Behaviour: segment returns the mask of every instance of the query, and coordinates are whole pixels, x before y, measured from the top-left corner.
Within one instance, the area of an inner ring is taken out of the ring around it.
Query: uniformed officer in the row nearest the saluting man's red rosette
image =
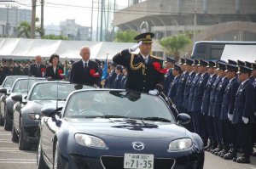
[[[170,57],[166,57],[166,69],[167,69],[167,73],[165,75],[165,86],[164,86],[164,93],[167,95],[170,89],[170,84],[174,78],[174,76],[172,75],[172,68],[173,65],[175,64],[176,60],[172,59]]]

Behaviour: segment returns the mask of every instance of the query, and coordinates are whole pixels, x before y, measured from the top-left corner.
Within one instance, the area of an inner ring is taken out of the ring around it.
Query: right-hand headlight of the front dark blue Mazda
[[[182,138],[172,141],[169,144],[168,151],[182,151],[192,147],[192,140],[190,138]]]

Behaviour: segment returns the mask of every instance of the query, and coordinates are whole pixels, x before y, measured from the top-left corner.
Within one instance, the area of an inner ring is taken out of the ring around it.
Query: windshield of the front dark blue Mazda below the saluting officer
[[[160,97],[120,91],[81,91],[68,99],[64,117],[135,118],[174,121],[171,110]]]

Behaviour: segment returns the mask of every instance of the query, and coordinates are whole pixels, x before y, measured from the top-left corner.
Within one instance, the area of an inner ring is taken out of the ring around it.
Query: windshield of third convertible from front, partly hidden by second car
[[[32,85],[36,82],[46,81],[45,79],[20,79],[15,82],[12,93],[27,93]]]

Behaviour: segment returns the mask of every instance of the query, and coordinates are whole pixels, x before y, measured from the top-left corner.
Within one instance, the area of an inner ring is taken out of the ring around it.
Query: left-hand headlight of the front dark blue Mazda
[[[105,142],[101,138],[96,138],[94,136],[90,136],[87,134],[76,133],[75,139],[78,142],[78,144],[87,147],[92,147],[96,149],[107,149]]]

